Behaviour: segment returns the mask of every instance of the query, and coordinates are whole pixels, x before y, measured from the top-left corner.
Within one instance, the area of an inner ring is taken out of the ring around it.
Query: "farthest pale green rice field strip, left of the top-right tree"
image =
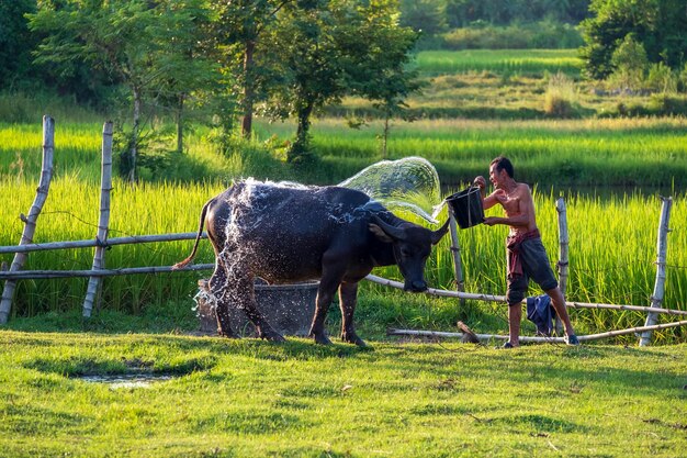
[[[421,75],[492,71],[498,74],[564,72],[578,76],[582,60],[575,49],[424,51],[415,59]]]

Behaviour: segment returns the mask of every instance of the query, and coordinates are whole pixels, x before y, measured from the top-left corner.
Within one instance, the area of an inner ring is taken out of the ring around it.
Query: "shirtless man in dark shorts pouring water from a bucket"
[[[513,177],[513,164],[506,157],[499,156],[489,165],[489,181],[494,185],[494,192],[484,197],[486,188],[484,177],[476,177],[473,182],[482,190],[485,210],[498,203],[506,212],[506,217],[485,217],[484,224],[510,226],[506,241],[508,248],[508,292],[506,300],[508,301],[509,340],[504,344],[504,347],[513,348],[520,345],[521,302],[525,299],[530,278],[551,298],[553,308],[565,326],[565,343],[578,345],[579,342],[575,336],[565,309],[565,299],[559,289],[559,282],[553,276],[547,252],[541,243],[530,188],[526,183],[517,182]]]

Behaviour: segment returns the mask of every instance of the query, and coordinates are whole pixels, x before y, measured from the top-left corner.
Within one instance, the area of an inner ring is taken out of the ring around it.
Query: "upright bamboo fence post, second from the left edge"
[[[102,175],[100,183],[100,219],[98,222],[98,235],[93,255],[93,270],[105,267],[105,243],[110,224],[110,191],[112,191],[112,122],[109,121],[102,129]],[[98,293],[102,277],[91,277],[88,280],[86,299],[83,300],[83,317],[91,316],[93,302]]]

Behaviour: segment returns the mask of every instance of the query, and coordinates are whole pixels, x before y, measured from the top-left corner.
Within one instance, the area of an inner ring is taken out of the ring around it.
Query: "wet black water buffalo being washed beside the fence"
[[[330,343],[324,324],[338,289],[341,339],[357,345],[364,345],[353,327],[358,282],[375,266],[397,265],[406,290],[427,290],[425,262],[448,230],[448,221],[436,232],[404,221],[352,189],[249,180],[205,203],[193,250],[176,268],[195,256],[203,224],[215,249],[210,291],[219,334],[235,336],[228,316],[233,302],[260,337],[283,340],[256,308],[254,278],[270,283],[319,279],[309,335]]]

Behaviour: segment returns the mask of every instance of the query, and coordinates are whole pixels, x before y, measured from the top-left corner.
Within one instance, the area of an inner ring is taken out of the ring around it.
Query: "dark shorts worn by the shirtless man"
[[[515,278],[508,276],[508,291],[506,292],[508,305],[517,305],[522,302],[530,278],[544,291],[559,286],[553,276],[547,249],[541,243],[541,237],[522,241],[519,256],[522,265],[522,275]],[[509,256],[506,256],[506,259],[508,258]],[[510,266],[508,266],[508,271],[510,271]]]

